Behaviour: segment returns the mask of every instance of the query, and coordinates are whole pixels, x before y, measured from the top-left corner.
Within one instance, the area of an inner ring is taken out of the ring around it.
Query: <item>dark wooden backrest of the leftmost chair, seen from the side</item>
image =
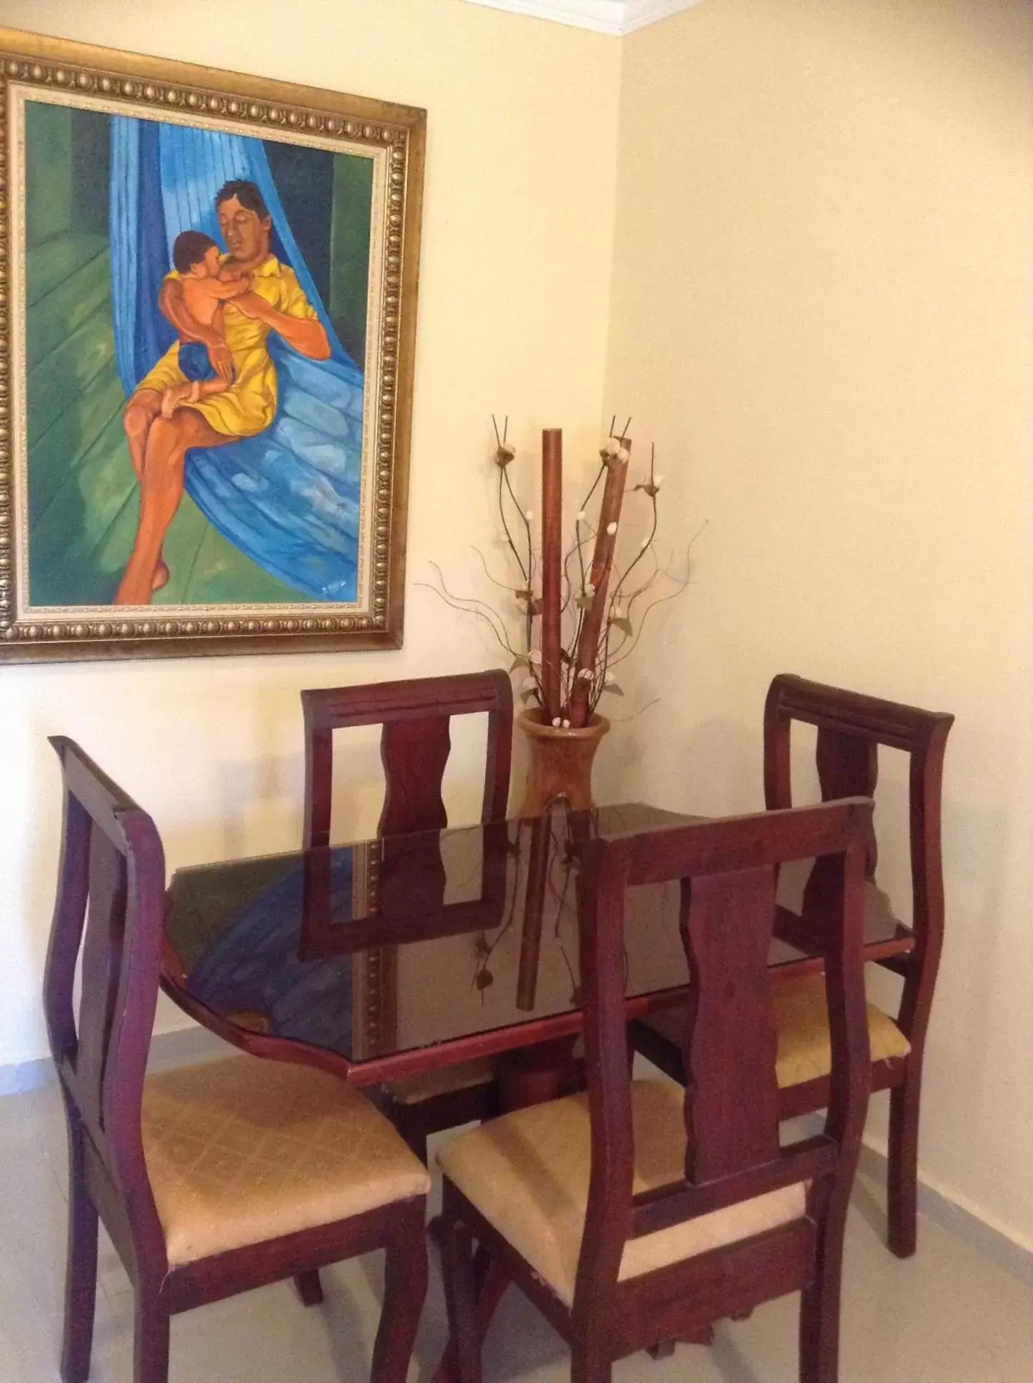
[[[106,1174],[130,1221],[144,1217],[141,1232],[159,1246],[141,1104],[158,1004],[165,853],[153,820],[73,740],[54,736],[50,743],[61,759],[65,790],[43,986],[50,1050],[69,1120],[86,1134],[100,1163],[95,1173]]]

